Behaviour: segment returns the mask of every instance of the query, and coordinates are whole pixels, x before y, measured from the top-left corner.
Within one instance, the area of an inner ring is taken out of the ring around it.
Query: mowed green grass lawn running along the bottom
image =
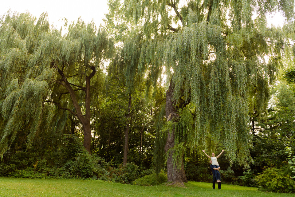
[[[221,190],[217,188],[213,190],[211,183],[202,182],[189,182],[185,184],[185,187],[172,187],[166,184],[143,187],[97,180],[44,180],[0,177],[1,197],[294,197],[294,194],[261,192],[254,187],[222,184],[221,188]]]

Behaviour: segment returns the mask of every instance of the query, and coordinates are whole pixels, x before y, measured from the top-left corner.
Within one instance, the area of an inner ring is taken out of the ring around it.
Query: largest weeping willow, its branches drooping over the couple
[[[282,30],[268,27],[266,16],[293,19],[293,1],[125,0],[124,7],[129,20],[144,21],[130,72],[154,86],[167,75],[168,182],[187,181],[183,153],[196,146],[220,142],[230,163],[249,167],[249,109],[262,110],[284,47]]]

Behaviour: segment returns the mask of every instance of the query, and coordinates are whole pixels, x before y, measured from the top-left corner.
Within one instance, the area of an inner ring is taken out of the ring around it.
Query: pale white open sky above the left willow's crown
[[[9,9],[11,12],[26,12],[37,19],[46,11],[50,25],[62,26],[61,19],[67,18],[69,22],[77,21],[79,16],[86,22],[94,19],[95,25],[103,23],[105,13],[108,13],[108,0],[5,0],[0,4],[0,16]]]

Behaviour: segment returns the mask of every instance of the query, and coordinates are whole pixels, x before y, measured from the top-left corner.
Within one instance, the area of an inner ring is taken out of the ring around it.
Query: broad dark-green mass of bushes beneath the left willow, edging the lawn
[[[118,183],[131,183],[139,177],[136,164],[115,167],[95,154],[90,155],[76,136],[65,135],[61,141],[60,147],[43,154],[33,149],[16,152],[6,163],[0,163],[0,175],[32,179],[100,179]]]

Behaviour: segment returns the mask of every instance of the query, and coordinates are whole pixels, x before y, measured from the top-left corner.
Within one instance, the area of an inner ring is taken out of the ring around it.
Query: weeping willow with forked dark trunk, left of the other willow
[[[113,50],[105,31],[78,19],[62,35],[49,27],[46,13],[38,20],[29,13],[6,14],[0,25],[0,155],[24,126],[29,146],[45,129],[40,128],[42,118],[55,118],[44,111],[54,106],[80,120],[90,152],[91,96],[102,84],[103,61]]]

